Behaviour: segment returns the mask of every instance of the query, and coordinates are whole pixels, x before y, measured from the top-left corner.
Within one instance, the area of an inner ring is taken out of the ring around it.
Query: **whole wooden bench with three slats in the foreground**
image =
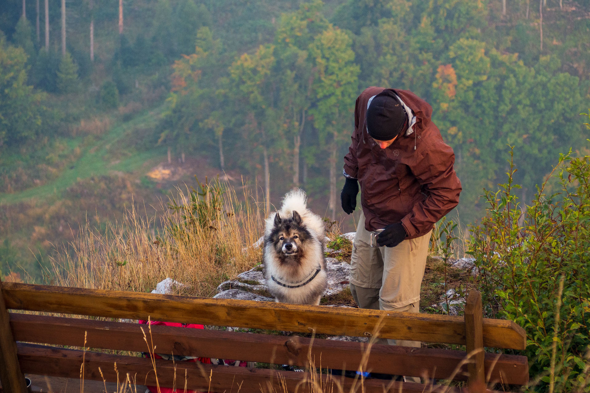
[[[5,391],[24,393],[24,374],[120,381],[129,374],[140,385],[234,391],[249,393],[313,390],[312,380],[337,384],[343,391],[359,388],[353,378],[329,377],[309,372],[228,367],[173,362],[66,349],[63,346],[156,352],[241,359],[251,362],[289,364],[312,368],[357,370],[385,374],[467,380],[469,391],[483,392],[496,383],[526,384],[529,379],[525,356],[484,352],[484,347],[524,349],[525,332],[511,321],[482,318],[481,296],[473,291],[467,298],[465,315],[443,316],[395,313],[330,306],[291,305],[247,300],[189,298],[113,290],[63,288],[57,286],[1,283],[0,290],[0,380]],[[63,316],[38,315],[57,313]],[[114,318],[114,321],[71,318],[83,315]],[[151,326],[119,322],[119,319],[148,319],[214,326],[315,333],[315,338]],[[143,327],[143,332],[142,332]],[[320,339],[322,335],[393,338],[422,342],[466,345],[467,351],[438,348],[409,348],[340,342]],[[86,345],[84,339],[86,338]],[[363,356],[366,355],[366,356]],[[467,359],[467,360],[466,360]],[[117,372],[113,365],[117,365]],[[156,372],[154,372],[154,366]],[[100,370],[99,370],[100,368]],[[329,380],[332,382],[329,382]],[[305,382],[307,381],[307,382]],[[301,385],[303,382],[303,385]],[[365,392],[444,391],[466,389],[367,379]],[[182,391],[182,389],[181,389]],[[317,389],[315,392],[318,392]]]

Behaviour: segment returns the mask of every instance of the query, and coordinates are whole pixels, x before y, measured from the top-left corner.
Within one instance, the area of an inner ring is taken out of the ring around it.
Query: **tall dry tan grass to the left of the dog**
[[[246,186],[239,198],[227,183],[204,187],[204,197],[177,189],[152,217],[133,208],[104,231],[86,224],[51,259],[48,273],[56,285],[136,292],[169,277],[186,285],[182,295],[214,295],[219,283],[260,262],[260,248],[242,249],[262,235],[266,213]]]

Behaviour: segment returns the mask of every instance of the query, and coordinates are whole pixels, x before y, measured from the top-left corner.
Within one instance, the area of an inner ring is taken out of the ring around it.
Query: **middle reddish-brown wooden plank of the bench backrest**
[[[15,339],[40,344],[86,346],[146,352],[143,326],[148,340],[158,352],[208,358],[241,359],[253,362],[306,366],[308,354],[322,359],[323,368],[358,369],[366,344],[309,339],[297,336],[271,336],[253,333],[207,331],[201,329],[148,326],[134,323],[91,321],[88,319],[11,313]],[[525,356],[489,354],[486,364],[492,369],[491,379],[505,384],[525,384],[528,364]],[[432,348],[405,348],[374,345],[369,354],[366,371],[446,379],[465,358],[466,352]],[[467,379],[467,367],[458,369],[455,379]]]

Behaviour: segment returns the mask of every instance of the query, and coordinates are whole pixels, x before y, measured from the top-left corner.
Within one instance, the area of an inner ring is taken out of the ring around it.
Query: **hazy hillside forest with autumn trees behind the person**
[[[588,0],[6,0],[2,273],[39,278],[87,219],[104,228],[165,197],[145,163],[199,157],[257,179],[267,201],[301,186],[342,217],[342,157],[369,85],[432,105],[461,222],[481,217],[507,145],[526,202],[559,153],[588,154],[589,18]]]

